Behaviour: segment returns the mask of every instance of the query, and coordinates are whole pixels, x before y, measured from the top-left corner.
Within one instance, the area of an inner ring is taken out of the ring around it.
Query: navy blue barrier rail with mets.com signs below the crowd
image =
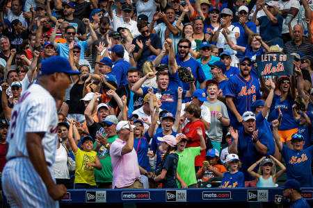
[[[237,189],[70,189],[61,203],[273,202],[282,188]],[[302,195],[313,202],[313,188]]]

